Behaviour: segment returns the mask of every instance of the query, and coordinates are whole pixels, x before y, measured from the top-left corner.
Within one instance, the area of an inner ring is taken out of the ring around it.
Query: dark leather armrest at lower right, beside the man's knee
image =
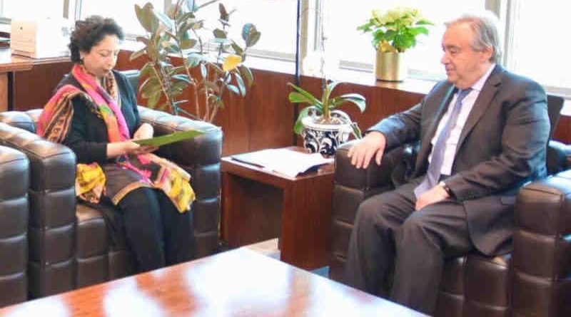
[[[515,203],[512,309],[521,316],[569,316],[571,170],[523,187]]]

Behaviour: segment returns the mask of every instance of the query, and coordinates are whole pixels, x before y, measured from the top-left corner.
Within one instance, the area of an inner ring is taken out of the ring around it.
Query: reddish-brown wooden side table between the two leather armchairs
[[[333,164],[291,178],[223,157],[221,170],[221,237],[229,246],[279,237],[282,261],[303,269],[328,264]]]

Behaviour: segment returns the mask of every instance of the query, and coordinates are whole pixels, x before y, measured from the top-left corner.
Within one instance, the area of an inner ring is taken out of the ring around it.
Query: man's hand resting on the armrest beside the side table
[[[369,132],[363,139],[358,140],[349,149],[347,157],[351,158],[351,164],[357,168],[367,168],[373,155],[375,155],[375,162],[380,165],[380,159],[383,158],[385,152],[385,145],[387,140],[385,135],[380,132]]]

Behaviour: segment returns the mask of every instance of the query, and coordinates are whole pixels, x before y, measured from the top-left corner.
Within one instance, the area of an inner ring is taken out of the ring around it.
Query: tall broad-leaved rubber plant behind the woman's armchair
[[[241,40],[230,37],[230,18],[234,10],[218,3],[219,27],[209,31],[201,9],[218,0],[177,0],[163,13],[151,3],[135,5],[136,16],[146,30],[137,41],[141,50],[131,60],[146,56],[141,68],[146,78],[139,90],[150,108],[168,110],[175,115],[212,122],[224,108],[226,92],[245,96],[253,83],[250,69],[243,64],[248,49],[260,39],[261,33],[251,23],[244,24]],[[210,36],[208,36],[210,35]],[[173,63],[176,57],[181,61]],[[191,100],[183,99],[183,90],[191,88]],[[186,107],[183,105],[187,104]],[[193,109],[193,113],[185,110]]]

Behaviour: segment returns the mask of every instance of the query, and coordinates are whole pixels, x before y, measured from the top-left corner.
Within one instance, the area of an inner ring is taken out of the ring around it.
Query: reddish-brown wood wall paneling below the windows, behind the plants
[[[129,52],[119,54],[116,68],[121,70],[138,69],[145,61],[139,58],[129,61]],[[294,105],[288,101],[293,82],[291,74],[252,69],[254,83],[246,98],[229,96],[226,108],[215,120],[224,132],[223,155],[261,150],[268,147],[285,147],[293,144]],[[319,78],[301,77],[301,85],[311,93],[319,93]],[[358,85],[344,83],[335,89],[335,94],[361,93],[367,98],[367,109],[360,113],[356,107],[343,108],[362,129],[368,128],[380,118],[397,113],[417,103],[423,94],[403,93],[402,90],[380,85]],[[192,100],[192,93],[185,96]],[[139,96],[139,103],[145,104]],[[193,109],[186,108],[193,113]],[[298,144],[300,139],[298,138]]]

